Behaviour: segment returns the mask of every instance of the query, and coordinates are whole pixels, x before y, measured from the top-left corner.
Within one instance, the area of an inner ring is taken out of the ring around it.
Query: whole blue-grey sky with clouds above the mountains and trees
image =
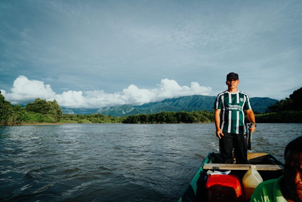
[[[140,105],[302,87],[301,1],[0,1],[0,89],[13,104]]]

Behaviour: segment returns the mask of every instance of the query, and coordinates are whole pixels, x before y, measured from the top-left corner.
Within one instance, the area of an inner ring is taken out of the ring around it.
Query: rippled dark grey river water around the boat
[[[0,200],[176,201],[209,152],[214,124],[0,126]],[[252,152],[283,161],[302,124],[258,124]]]

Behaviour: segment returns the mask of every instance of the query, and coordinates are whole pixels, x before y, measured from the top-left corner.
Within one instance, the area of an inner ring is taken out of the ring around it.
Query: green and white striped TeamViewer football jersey
[[[220,128],[222,132],[247,134],[245,110],[252,109],[252,107],[246,93],[224,91],[218,94],[215,109],[221,109]]]

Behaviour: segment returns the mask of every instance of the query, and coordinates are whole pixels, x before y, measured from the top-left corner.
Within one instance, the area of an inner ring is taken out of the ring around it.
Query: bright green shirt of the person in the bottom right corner
[[[283,175],[278,179],[267,180],[260,183],[251,196],[251,202],[286,202],[280,189]]]

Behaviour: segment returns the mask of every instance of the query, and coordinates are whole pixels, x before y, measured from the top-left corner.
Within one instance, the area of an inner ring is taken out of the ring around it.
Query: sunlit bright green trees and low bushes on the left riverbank
[[[0,91],[0,125],[15,124],[57,124],[57,123],[121,123],[125,117],[104,116],[102,114],[71,115],[62,114],[56,100],[37,98],[25,107],[5,101]]]

